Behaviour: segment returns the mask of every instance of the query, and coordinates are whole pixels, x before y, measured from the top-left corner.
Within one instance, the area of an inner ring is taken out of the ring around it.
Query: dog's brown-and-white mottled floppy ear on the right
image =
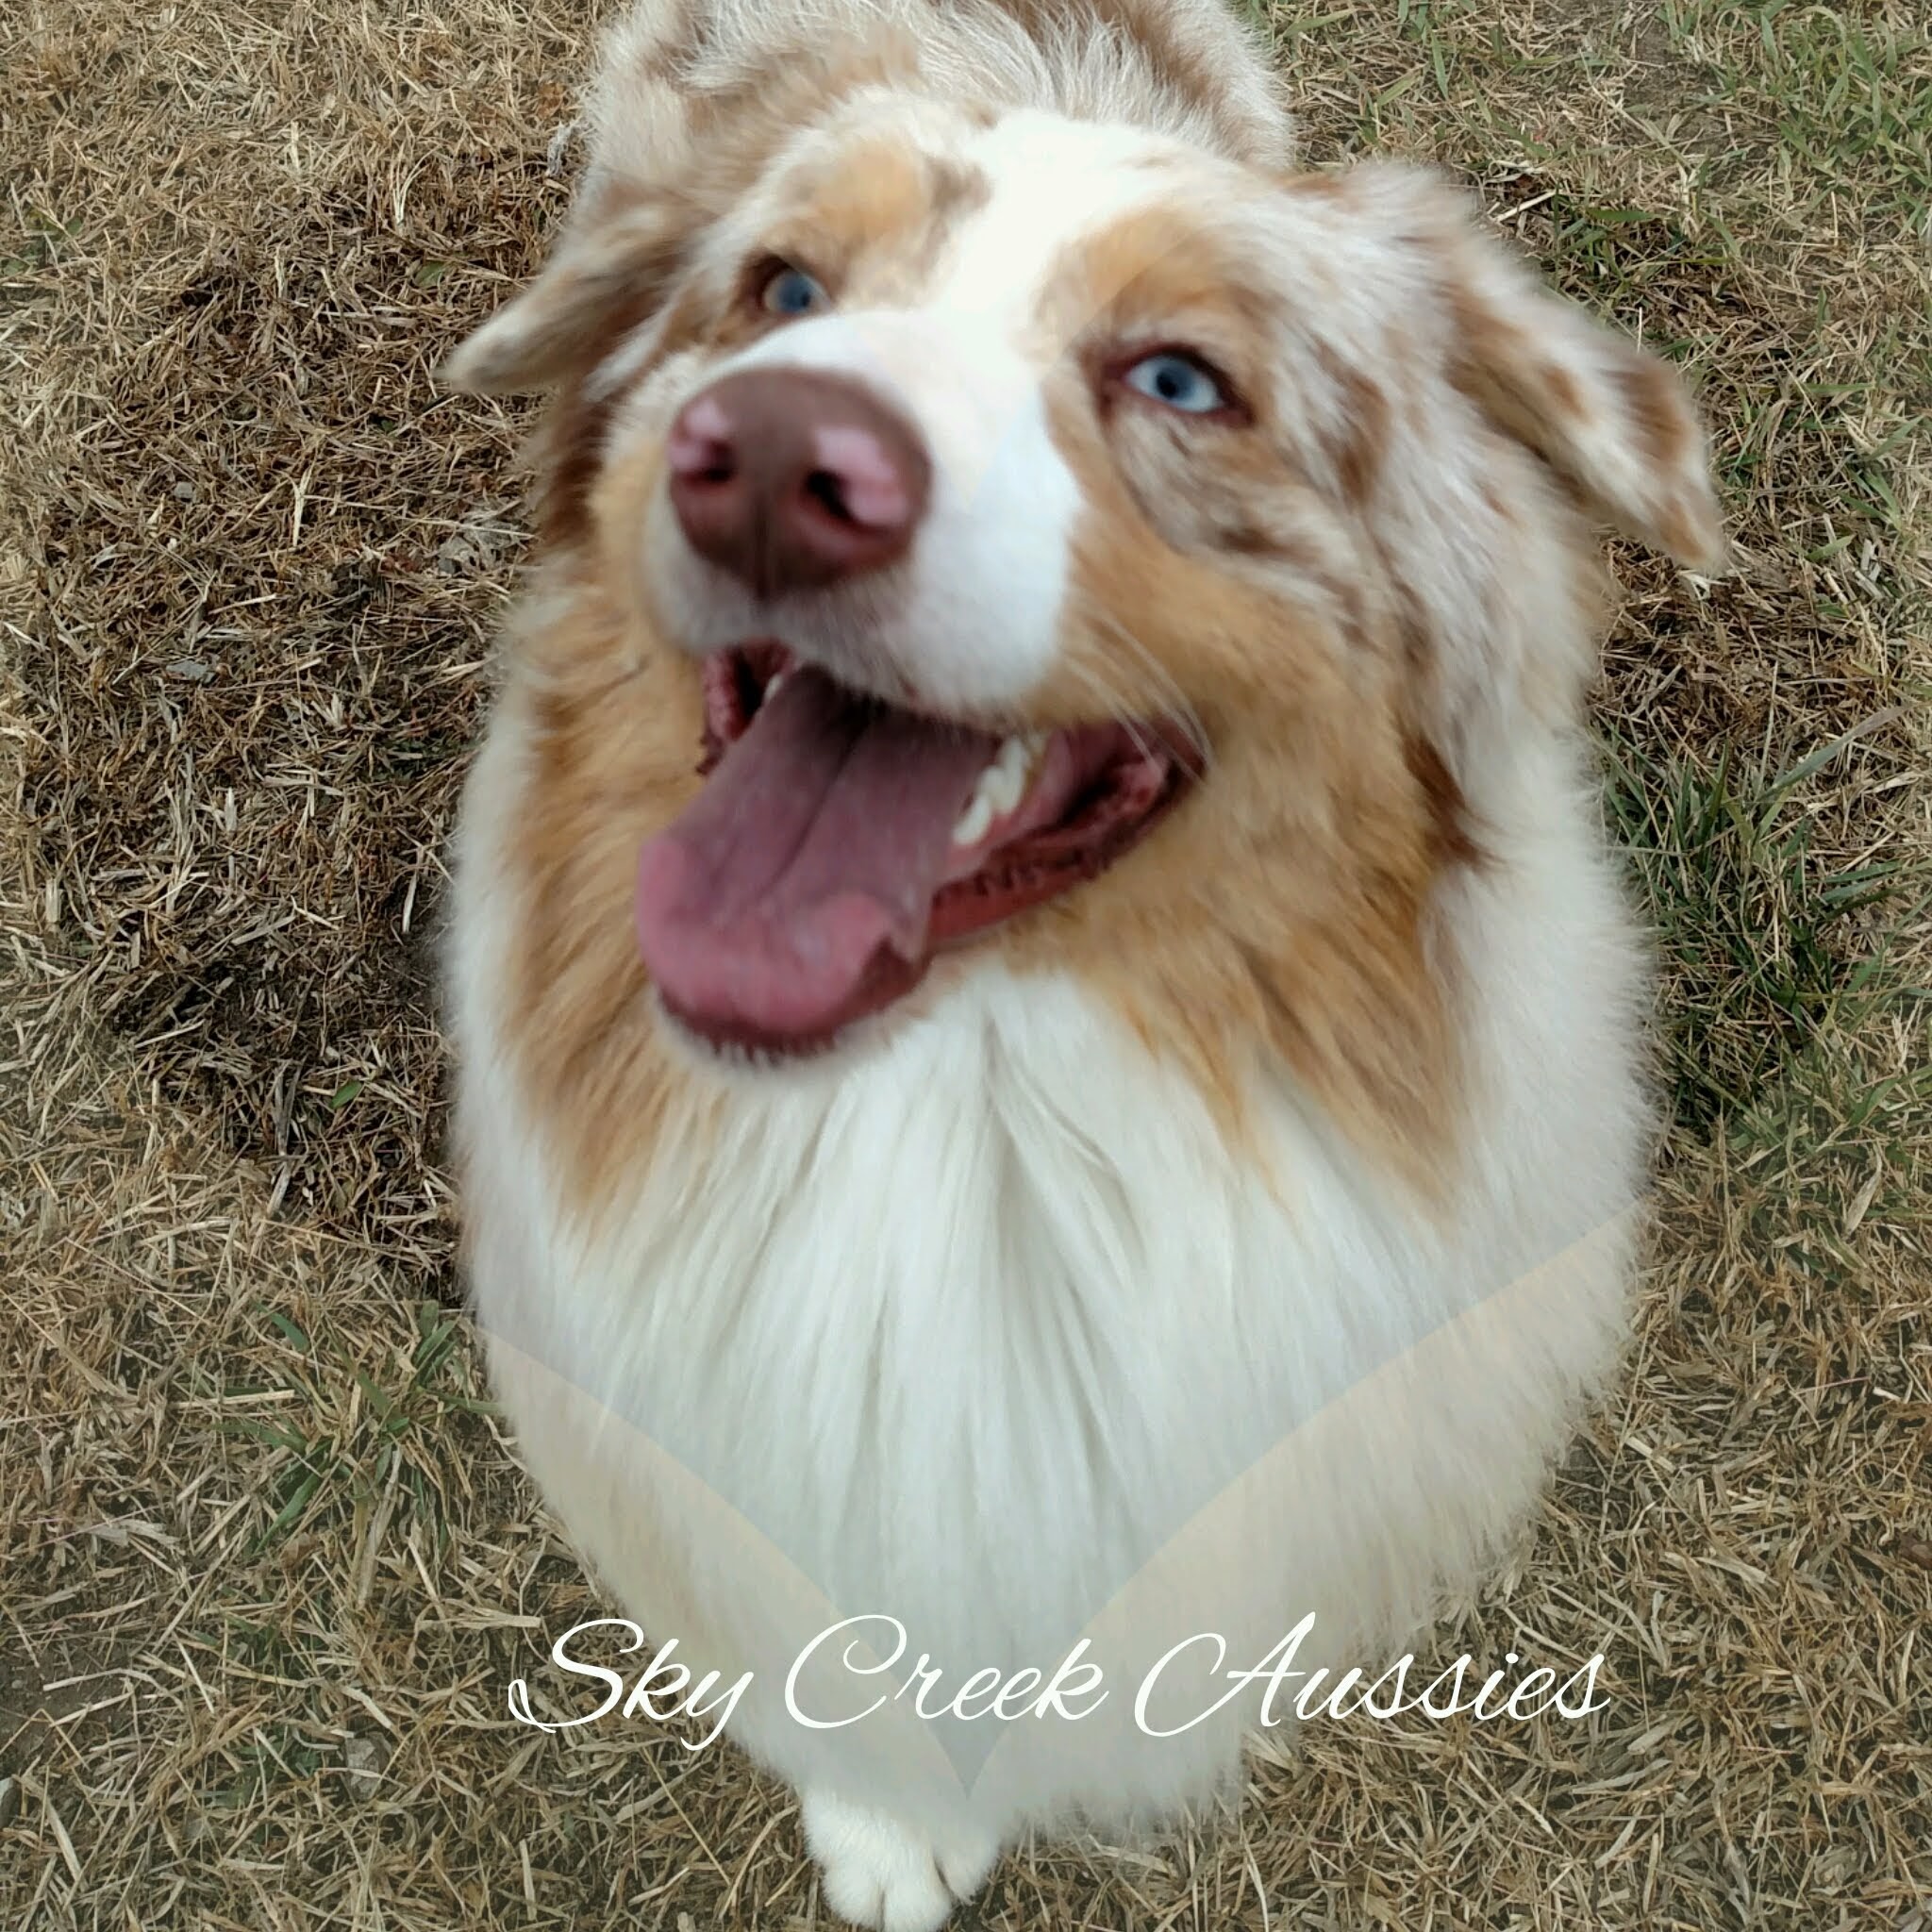
[[[1538,284],[1447,182],[1412,168],[1360,170],[1399,197],[1430,253],[1457,384],[1625,535],[1690,568],[1725,568],[1710,454],[1671,363]]]

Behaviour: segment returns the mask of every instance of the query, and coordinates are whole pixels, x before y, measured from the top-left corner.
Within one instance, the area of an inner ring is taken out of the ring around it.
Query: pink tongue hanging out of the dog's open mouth
[[[638,862],[638,943],[665,1005],[709,1037],[782,1047],[902,993],[997,750],[794,670]]]

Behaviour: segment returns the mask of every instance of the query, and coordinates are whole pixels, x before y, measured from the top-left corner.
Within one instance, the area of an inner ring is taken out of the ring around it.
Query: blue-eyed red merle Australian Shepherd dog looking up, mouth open
[[[446,379],[551,398],[446,956],[493,1385],[927,1932],[1229,1789],[1229,1660],[1414,1629],[1615,1372],[1592,526],[1718,570],[1704,433],[1208,0],[643,0]]]

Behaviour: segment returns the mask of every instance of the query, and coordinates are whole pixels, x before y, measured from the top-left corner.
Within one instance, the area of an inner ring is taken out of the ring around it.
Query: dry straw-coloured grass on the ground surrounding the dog
[[[504,1714],[591,1598],[446,1306],[425,935],[518,535],[514,423],[427,371],[562,205],[585,17],[439,6],[8,17],[8,1926],[815,1917],[728,1752]],[[983,1926],[1932,1922],[1911,12],[1267,15],[1314,158],[1439,156],[1689,363],[1750,556],[1714,587],[1619,558],[1660,1262],[1627,1395],[1430,1638],[1604,1648],[1611,1708],[1310,1735],[1236,1830],[1012,1859]]]

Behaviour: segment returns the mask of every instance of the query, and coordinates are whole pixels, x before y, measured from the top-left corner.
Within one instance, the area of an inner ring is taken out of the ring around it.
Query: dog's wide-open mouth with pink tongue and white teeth
[[[699,769],[638,866],[659,999],[713,1045],[811,1053],[941,949],[1113,864],[1200,753],[1165,723],[997,738],[750,643],[705,661]]]

